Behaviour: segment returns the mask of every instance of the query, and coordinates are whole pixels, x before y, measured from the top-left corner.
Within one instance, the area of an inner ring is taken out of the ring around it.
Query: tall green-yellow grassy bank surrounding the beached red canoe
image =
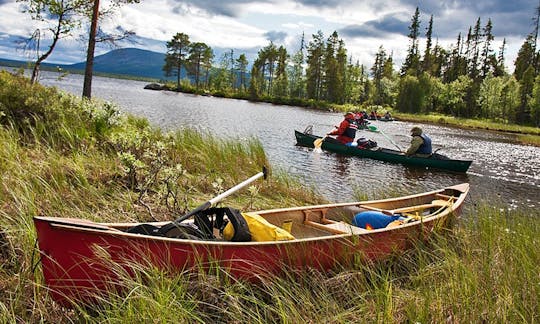
[[[107,103],[0,72],[0,323],[419,322],[540,320],[540,213],[475,202],[457,227],[383,264],[260,284],[223,269],[135,266],[100,304],[62,308],[43,286],[35,215],[174,219],[268,164],[259,141],[162,133]],[[284,172],[227,198],[245,210],[323,202]],[[489,207],[488,207],[489,206]]]

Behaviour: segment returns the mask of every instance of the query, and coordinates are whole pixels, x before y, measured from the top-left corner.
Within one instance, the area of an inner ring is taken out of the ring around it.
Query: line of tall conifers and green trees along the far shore
[[[538,127],[539,13],[537,8],[535,28],[518,52],[513,73],[504,65],[506,40],[500,48],[493,48],[491,19],[482,24],[479,17],[466,34],[457,35],[455,44],[443,48],[432,38],[433,16],[424,28],[425,35],[420,34],[418,8],[408,28],[408,51],[399,69],[382,45],[373,65],[366,67],[348,56],[336,31],[328,37],[319,31],[309,42],[302,35],[295,53],[270,42],[259,50],[250,69],[245,54],[235,55],[231,50],[216,62],[210,46],[177,33],[167,42],[163,71],[176,77],[176,88],[182,91],[211,91],[303,106],[375,106]]]

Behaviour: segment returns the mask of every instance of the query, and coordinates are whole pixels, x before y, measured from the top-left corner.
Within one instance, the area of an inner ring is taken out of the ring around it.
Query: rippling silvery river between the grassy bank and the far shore
[[[59,79],[55,73],[43,72],[40,82],[76,95],[82,93],[81,75]],[[330,201],[349,201],[356,193],[376,198],[381,194],[416,193],[469,182],[470,201],[481,199],[509,209],[540,206],[540,148],[516,144],[512,134],[419,125],[432,138],[434,149],[441,148],[439,153],[473,163],[465,174],[414,168],[334,153],[314,153],[312,149],[295,145],[295,129],[302,131],[313,125],[313,133],[322,135],[341,122],[341,113],[144,90],[146,84],[95,77],[92,96],[113,101],[121,110],[146,117],[164,130],[192,127],[222,138],[257,137],[274,168],[300,177],[306,186],[314,187]],[[406,148],[409,130],[416,124],[374,121],[372,125]],[[359,131],[357,137],[394,148],[381,134]]]

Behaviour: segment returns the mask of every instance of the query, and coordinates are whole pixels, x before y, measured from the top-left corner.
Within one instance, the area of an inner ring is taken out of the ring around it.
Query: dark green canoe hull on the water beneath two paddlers
[[[313,142],[316,139],[321,138],[320,136],[306,134],[296,130],[294,131],[294,134],[296,136],[297,145],[305,147],[313,147]],[[405,156],[399,151],[381,147],[373,149],[361,149],[354,146],[343,145],[336,142],[334,139],[325,139],[322,143],[321,148],[323,150],[339,154],[353,155],[392,163],[402,163],[406,165],[437,168],[456,172],[467,172],[467,169],[469,169],[469,166],[472,163],[472,161],[447,159],[439,154],[434,154],[431,157],[418,157]]]

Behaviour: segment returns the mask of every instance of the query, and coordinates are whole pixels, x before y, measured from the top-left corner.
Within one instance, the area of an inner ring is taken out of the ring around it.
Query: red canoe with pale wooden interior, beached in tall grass
[[[271,224],[291,223],[294,239],[267,242],[190,240],[126,232],[137,224],[34,217],[45,284],[54,300],[91,303],[132,273],[133,264],[180,273],[218,265],[237,278],[279,275],[284,269],[329,270],[354,259],[374,262],[411,248],[458,214],[469,191],[463,183],[421,194],[364,202],[256,212]],[[368,230],[351,225],[362,211],[400,213],[409,222]],[[189,221],[189,220],[188,220]],[[153,223],[163,226],[165,223]],[[120,271],[122,270],[123,271]]]

